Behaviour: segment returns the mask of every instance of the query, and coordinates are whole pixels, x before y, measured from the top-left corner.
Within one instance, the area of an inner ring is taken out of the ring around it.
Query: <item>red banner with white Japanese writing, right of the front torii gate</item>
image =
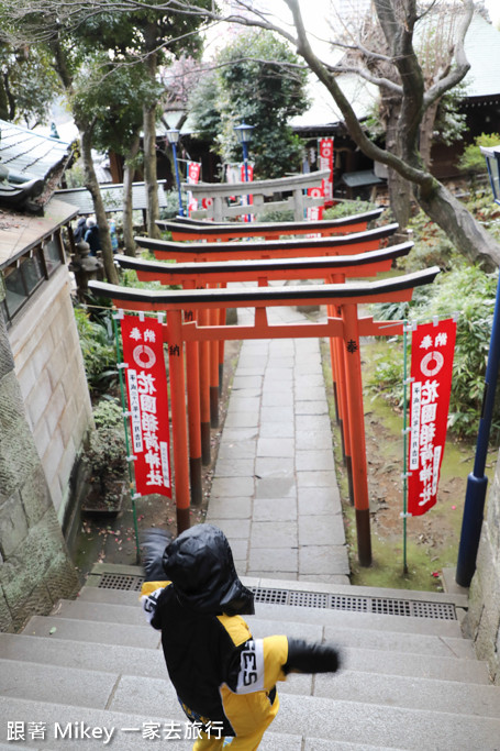
[[[419,325],[412,333],[408,512],[436,502],[446,441],[456,322]]]

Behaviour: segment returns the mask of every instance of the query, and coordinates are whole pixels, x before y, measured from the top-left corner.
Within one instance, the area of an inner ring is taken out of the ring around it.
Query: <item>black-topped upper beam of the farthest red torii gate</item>
[[[241,238],[278,239],[282,235],[321,234],[323,238],[345,232],[362,232],[368,222],[380,217],[384,209],[374,209],[364,213],[338,219],[321,219],[303,222],[208,222],[177,217],[175,220],[157,220],[160,230],[171,232],[174,241],[207,240],[223,242]]]

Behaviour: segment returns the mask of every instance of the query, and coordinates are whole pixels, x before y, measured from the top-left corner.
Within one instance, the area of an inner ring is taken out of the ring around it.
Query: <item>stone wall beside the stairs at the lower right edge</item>
[[[500,454],[470,585],[468,626],[478,658],[488,662],[493,683],[500,685]]]

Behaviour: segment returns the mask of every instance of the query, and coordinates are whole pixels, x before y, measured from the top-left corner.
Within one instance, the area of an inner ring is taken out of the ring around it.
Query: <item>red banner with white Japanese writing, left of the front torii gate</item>
[[[121,321],[126,364],[132,454],[138,494],[171,498],[170,427],[162,323],[125,316]]]

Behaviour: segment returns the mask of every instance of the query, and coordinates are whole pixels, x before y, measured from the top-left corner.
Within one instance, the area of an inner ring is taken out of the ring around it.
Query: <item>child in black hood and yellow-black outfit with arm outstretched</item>
[[[200,728],[193,751],[255,751],[276,717],[276,682],[288,673],[338,669],[337,651],[286,636],[254,639],[242,615],[254,595],[240,581],[224,533],[198,524],[169,541],[144,535],[142,605],[162,631],[168,674],[187,717]]]

